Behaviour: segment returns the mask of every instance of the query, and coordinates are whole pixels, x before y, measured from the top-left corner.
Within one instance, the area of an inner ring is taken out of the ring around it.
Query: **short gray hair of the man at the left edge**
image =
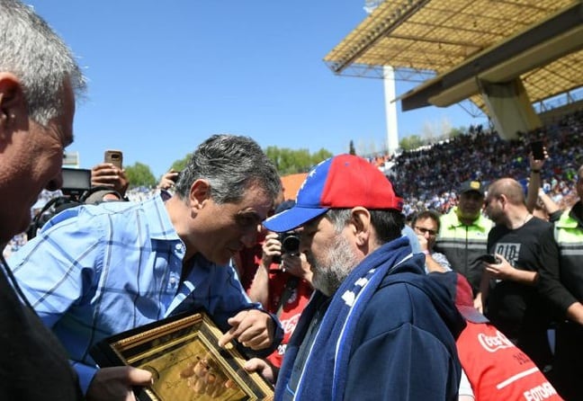
[[[49,24],[18,0],[0,0],[0,71],[18,77],[31,120],[46,126],[62,112],[64,84],[85,92],[85,77]]]

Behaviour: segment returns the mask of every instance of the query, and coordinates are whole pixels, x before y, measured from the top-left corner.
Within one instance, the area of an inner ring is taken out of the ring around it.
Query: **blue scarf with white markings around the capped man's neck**
[[[335,400],[344,397],[348,360],[358,319],[384,277],[412,256],[408,238],[400,237],[364,258],[342,282],[330,301],[311,346],[308,360],[301,371],[295,399]],[[419,272],[422,272],[421,268]],[[316,291],[302,313],[296,328],[298,333],[294,333],[294,337],[303,338],[311,317],[323,299],[325,297]],[[293,361],[299,350],[299,343],[293,344],[293,339],[290,345],[285,352],[277,381],[276,400],[281,400],[283,391],[286,391]]]

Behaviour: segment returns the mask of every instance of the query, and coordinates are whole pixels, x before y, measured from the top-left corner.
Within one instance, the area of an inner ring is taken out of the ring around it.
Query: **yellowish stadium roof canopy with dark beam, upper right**
[[[335,74],[422,82],[403,110],[470,98],[480,82],[522,80],[531,102],[583,86],[582,0],[387,0],[324,58]]]

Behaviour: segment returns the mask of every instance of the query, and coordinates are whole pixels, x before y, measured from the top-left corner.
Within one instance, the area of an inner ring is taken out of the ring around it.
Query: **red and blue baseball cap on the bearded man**
[[[359,156],[338,155],[314,167],[301,184],[296,204],[267,218],[264,226],[275,232],[300,227],[328,209],[395,209],[403,200],[375,165]]]

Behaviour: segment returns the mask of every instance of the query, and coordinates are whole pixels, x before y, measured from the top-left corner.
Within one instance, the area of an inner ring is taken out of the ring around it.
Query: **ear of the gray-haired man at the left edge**
[[[28,124],[28,107],[20,80],[0,72],[0,132],[5,135],[20,124]]]

